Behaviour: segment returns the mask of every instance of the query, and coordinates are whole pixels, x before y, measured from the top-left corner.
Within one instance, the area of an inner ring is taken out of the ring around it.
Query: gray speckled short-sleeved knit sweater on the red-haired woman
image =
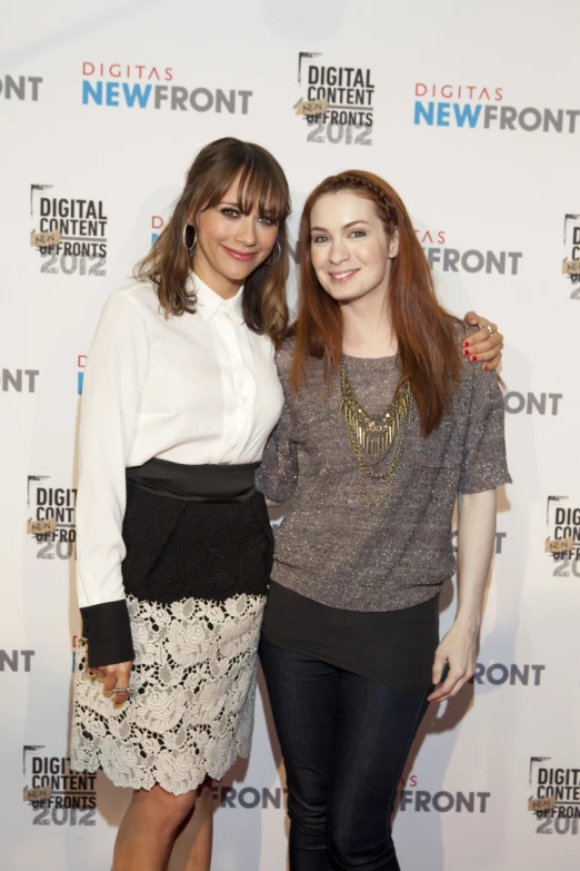
[[[462,338],[458,329],[458,354]],[[454,572],[450,526],[457,494],[511,482],[497,375],[464,360],[452,408],[427,438],[414,410],[387,495],[371,508],[339,410],[340,377],[329,390],[322,362],[312,359],[296,394],[292,353],[290,339],[277,356],[286,403],[257,482],[273,502],[292,497],[276,538],[273,580],[353,611],[427,601]],[[359,402],[369,414],[381,414],[399,380],[397,357],[346,359]],[[380,486],[367,479],[369,496]]]

